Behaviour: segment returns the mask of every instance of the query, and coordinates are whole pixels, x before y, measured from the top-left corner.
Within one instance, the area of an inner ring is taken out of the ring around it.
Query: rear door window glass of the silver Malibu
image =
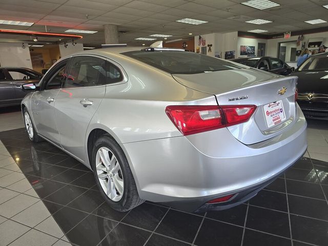
[[[106,84],[106,60],[92,56],[73,58],[65,88]]]

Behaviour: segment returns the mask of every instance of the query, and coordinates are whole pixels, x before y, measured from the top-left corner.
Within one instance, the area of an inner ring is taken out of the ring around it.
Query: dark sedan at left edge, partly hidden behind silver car
[[[0,67],[0,107],[20,105],[28,93],[22,85],[38,83],[43,74],[28,68]]]

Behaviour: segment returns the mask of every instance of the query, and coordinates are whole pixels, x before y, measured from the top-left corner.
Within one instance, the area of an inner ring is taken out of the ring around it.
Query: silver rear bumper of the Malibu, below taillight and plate
[[[123,144],[139,196],[189,212],[227,209],[256,195],[307,148],[306,121],[301,112],[288,130],[254,145],[242,144],[226,128],[215,131],[219,132],[200,133],[221,136],[216,142],[204,141],[204,148],[196,148],[187,137]],[[207,145],[215,145],[216,152],[207,152],[213,149]],[[227,202],[206,204],[230,194],[236,195]]]

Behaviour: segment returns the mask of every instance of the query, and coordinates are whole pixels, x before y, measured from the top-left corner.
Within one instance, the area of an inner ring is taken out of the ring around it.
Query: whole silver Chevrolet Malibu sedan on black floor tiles
[[[144,200],[223,210],[306,151],[297,77],[165,48],[106,48],[59,60],[22,101],[30,140],[94,172],[109,205]]]

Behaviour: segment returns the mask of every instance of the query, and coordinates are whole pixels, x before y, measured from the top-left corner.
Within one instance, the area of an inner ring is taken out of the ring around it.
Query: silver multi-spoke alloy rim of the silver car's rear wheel
[[[119,162],[112,151],[100,147],[96,154],[96,172],[106,195],[112,201],[119,201],[124,192],[124,180]]]

